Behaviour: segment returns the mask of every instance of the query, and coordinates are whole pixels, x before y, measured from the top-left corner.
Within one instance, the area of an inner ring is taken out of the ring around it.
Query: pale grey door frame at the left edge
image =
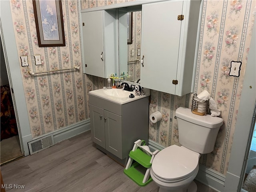
[[[29,155],[28,142],[32,141],[32,135],[28,119],[28,111],[20,71],[20,60],[16,46],[10,1],[0,2],[0,35],[6,63],[6,71],[10,88],[12,88],[12,101],[18,126],[20,146],[24,156]]]

